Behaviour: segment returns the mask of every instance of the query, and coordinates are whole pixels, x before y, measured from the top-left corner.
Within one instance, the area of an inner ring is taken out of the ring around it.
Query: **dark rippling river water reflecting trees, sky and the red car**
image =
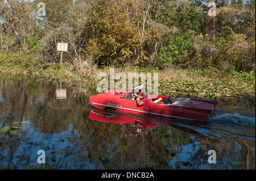
[[[255,169],[253,99],[220,99],[201,123],[101,112],[88,106],[94,94],[0,74],[0,169]]]

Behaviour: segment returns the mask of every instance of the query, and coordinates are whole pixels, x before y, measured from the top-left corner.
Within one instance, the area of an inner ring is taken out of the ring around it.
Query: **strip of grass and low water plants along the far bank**
[[[96,90],[97,75],[101,72],[110,74],[110,67],[102,69],[86,67],[82,64],[38,64],[33,57],[19,53],[0,52],[0,72],[5,74],[23,74],[31,77],[46,78],[49,81],[63,81],[71,87]],[[204,99],[251,99],[255,102],[255,73],[231,72],[221,73],[213,68],[207,70],[184,70],[179,68],[126,67],[115,68],[115,73],[154,73],[158,72],[160,95],[193,96]],[[152,75],[153,78],[153,75]],[[118,80],[115,80],[117,82]],[[129,87],[127,87],[129,88]]]

